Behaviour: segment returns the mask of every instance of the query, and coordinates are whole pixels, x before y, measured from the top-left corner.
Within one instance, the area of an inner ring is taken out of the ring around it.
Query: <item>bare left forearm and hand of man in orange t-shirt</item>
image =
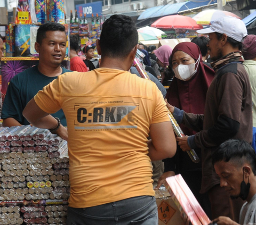
[[[33,126],[38,128],[53,129],[58,125],[58,121],[53,118],[52,115],[39,108],[34,98],[26,105],[23,110],[23,116],[33,124]],[[60,128],[56,131],[56,134],[62,139],[68,140],[68,131],[62,125],[60,125]]]

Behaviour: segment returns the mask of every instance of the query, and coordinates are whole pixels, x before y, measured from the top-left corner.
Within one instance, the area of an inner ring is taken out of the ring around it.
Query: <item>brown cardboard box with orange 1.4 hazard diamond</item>
[[[164,190],[155,190],[156,204],[158,209],[159,225],[184,225],[180,217],[180,211],[173,202],[170,193]]]

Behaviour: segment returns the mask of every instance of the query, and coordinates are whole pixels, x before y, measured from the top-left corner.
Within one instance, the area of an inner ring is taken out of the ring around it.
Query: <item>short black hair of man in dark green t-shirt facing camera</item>
[[[42,40],[46,38],[47,31],[63,31],[65,32],[65,27],[59,23],[44,23],[40,25],[36,34],[36,42],[42,44]]]

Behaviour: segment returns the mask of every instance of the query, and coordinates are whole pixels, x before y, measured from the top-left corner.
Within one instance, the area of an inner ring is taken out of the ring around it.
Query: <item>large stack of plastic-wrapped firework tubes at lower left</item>
[[[9,219],[0,224],[65,223],[67,141],[36,127],[2,127],[0,146],[0,218]]]

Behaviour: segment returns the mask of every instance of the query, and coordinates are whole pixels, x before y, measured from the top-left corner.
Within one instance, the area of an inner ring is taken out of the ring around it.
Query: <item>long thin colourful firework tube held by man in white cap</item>
[[[140,63],[138,61],[138,59],[134,59],[133,61],[133,65],[135,66],[135,68],[137,69],[137,71],[139,72],[141,78],[145,78],[149,80],[148,74],[142,69],[142,67],[140,66]],[[175,134],[177,135],[177,137],[183,137],[185,136],[185,134],[183,133],[183,131],[181,130],[179,124],[177,123],[177,121],[174,119],[174,116],[172,115],[172,113],[170,112],[170,110],[167,108],[168,110],[168,115],[169,118],[172,122],[172,127],[173,130],[175,132]],[[189,151],[187,151],[190,159],[194,162],[194,163],[198,163],[200,162],[200,159],[198,157],[198,155],[196,154],[196,152],[194,151],[194,149],[191,149]]]

